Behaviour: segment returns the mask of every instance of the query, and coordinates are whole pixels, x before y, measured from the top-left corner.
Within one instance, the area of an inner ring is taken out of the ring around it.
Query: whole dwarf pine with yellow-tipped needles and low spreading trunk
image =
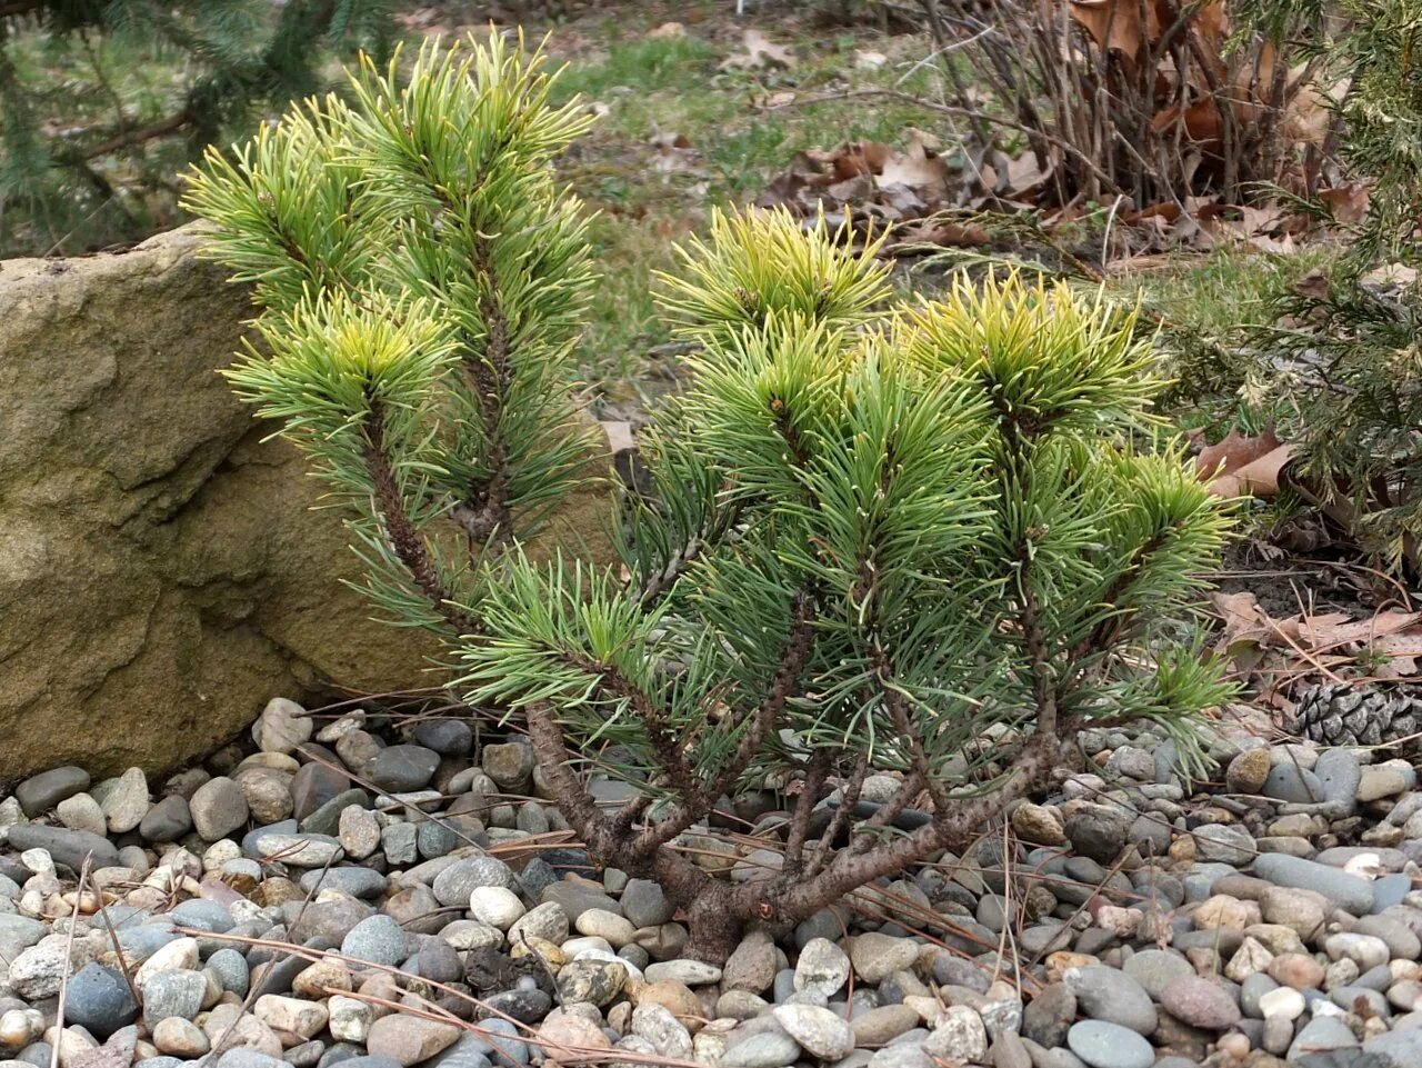
[[[375,603],[526,724],[570,826],[687,909],[693,951],[961,848],[1086,725],[1197,752],[1223,687],[1186,610],[1226,520],[1149,414],[1130,316],[1015,276],[894,307],[876,246],[715,213],[664,280],[694,377],[619,562],[533,563],[586,449],[592,276],[549,168],[583,118],[498,40],[353,82],[193,176],[264,309],[230,377],[350,511]],[[875,771],[902,788],[866,808]],[[634,799],[600,811],[592,775]],[[752,779],[795,782],[784,859],[727,882],[677,846]]]

